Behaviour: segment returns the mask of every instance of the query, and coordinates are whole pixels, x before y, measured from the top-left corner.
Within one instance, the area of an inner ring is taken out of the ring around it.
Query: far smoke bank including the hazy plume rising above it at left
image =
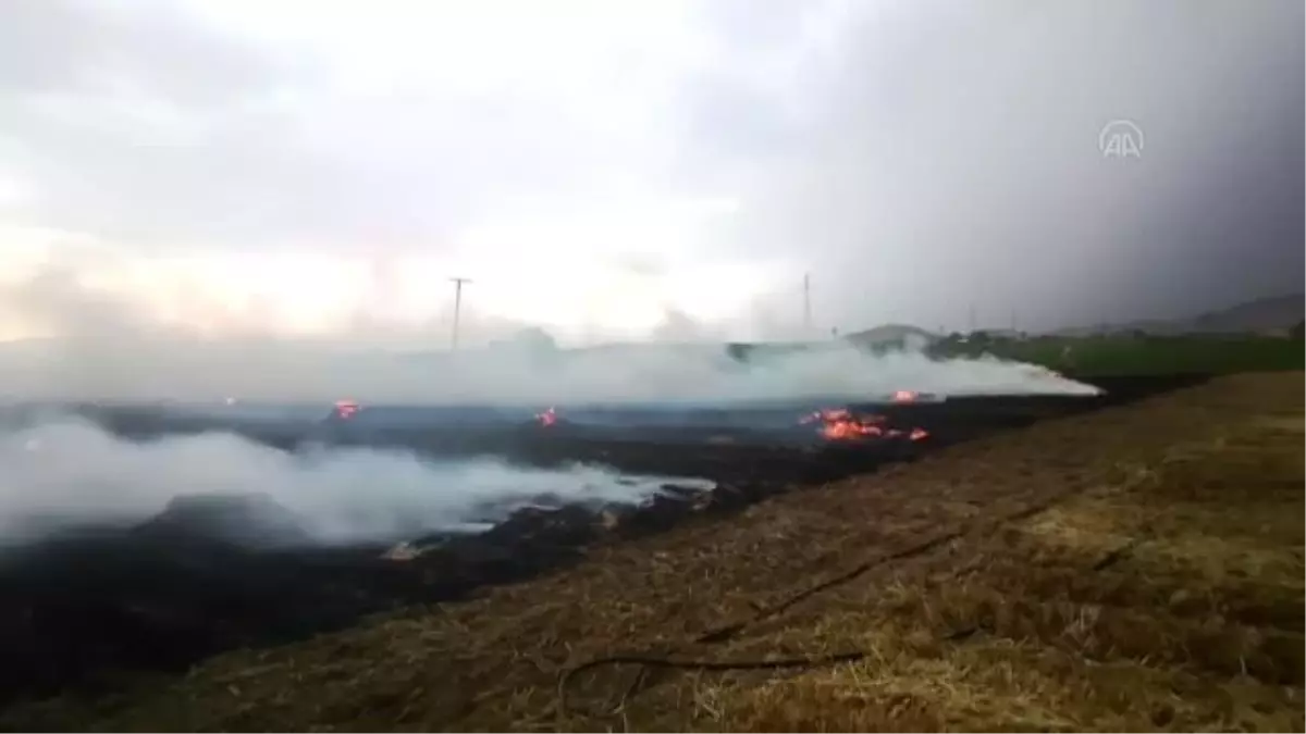
[[[739,363],[726,345],[646,342],[559,349],[543,330],[485,349],[379,349],[346,334],[334,341],[234,333],[208,337],[162,323],[69,273],[0,289],[0,306],[54,334],[0,343],[0,398],[178,400],[215,402],[737,402],[803,397],[865,400],[896,391],[944,394],[1093,393],[1029,364],[996,359],[934,360],[919,350],[871,355],[849,342]],[[673,313],[677,337],[703,337]],[[441,342],[444,334],[440,334]],[[434,341],[434,340],[431,340]]]

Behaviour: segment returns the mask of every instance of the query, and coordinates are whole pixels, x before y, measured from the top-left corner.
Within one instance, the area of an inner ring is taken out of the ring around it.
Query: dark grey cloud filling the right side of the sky
[[[741,252],[804,252],[840,324],[1029,327],[1306,282],[1306,7],[919,3],[875,16]],[[1141,159],[1104,159],[1138,121]]]

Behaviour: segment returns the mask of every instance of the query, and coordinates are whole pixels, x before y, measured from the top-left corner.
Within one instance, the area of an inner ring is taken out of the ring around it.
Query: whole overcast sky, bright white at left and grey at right
[[[0,338],[1028,329],[1306,289],[1301,0],[7,0]],[[1104,157],[1130,120],[1139,157]]]

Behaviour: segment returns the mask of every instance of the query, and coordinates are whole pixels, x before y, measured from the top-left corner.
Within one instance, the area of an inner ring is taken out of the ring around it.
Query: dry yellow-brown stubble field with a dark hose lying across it
[[[599,545],[12,731],[1302,731],[1306,375]]]

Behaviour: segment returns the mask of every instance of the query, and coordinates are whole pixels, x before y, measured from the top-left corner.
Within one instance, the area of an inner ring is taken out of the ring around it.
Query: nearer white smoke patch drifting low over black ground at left
[[[541,495],[639,503],[666,482],[684,482],[593,466],[430,462],[371,449],[291,455],[231,434],[133,443],[68,417],[0,428],[0,542],[88,524],[137,524],[179,495],[248,494],[293,512],[319,543],[410,539],[502,520]]]

